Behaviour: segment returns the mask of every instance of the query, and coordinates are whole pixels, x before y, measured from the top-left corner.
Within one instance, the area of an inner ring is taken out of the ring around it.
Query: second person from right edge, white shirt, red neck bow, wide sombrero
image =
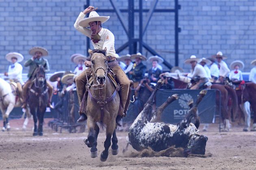
[[[243,75],[241,70],[244,68],[244,64],[240,60],[235,60],[230,64],[230,68],[232,71],[230,72],[228,78],[231,81],[242,81],[243,80]],[[241,69],[241,70],[239,70]]]

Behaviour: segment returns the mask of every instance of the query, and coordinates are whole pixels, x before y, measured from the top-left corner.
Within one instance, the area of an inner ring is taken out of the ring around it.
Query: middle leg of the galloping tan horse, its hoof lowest
[[[113,135],[114,130],[115,130],[115,121],[109,122],[109,124],[106,127],[106,140],[104,142],[105,150],[102,151],[100,155],[101,161],[106,161],[106,159],[108,158],[108,149],[111,145],[111,137]]]

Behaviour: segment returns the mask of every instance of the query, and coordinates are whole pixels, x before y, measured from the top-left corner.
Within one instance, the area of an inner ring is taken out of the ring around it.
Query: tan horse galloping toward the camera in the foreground
[[[119,110],[120,98],[117,87],[108,78],[108,65],[106,61],[106,48],[104,50],[89,50],[91,55],[91,70],[93,74],[93,85],[87,84],[87,126],[89,134],[85,144],[91,147],[91,157],[97,157],[97,138],[99,126],[97,122],[106,125],[105,150],[100,155],[101,161],[106,161],[108,149],[111,145],[112,154],[117,155],[118,145],[116,136],[115,119]],[[87,81],[88,82],[88,81]]]

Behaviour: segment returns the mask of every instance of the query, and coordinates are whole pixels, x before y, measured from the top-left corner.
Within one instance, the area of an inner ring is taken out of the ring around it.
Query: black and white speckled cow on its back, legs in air
[[[161,87],[162,82],[158,81],[152,95],[144,105],[144,109],[138,115],[137,119],[132,123],[129,129],[129,143],[137,151],[143,149],[152,149],[153,151],[162,151],[169,147],[183,148],[184,155],[188,154],[205,154],[207,136],[199,135],[197,128],[200,125],[200,119],[197,117],[197,105],[206,95],[206,90],[202,90],[198,95],[197,102],[193,106],[193,100],[190,100],[190,110],[186,117],[178,123],[171,125],[159,123],[163,110],[173,101],[178,99],[178,95],[174,94],[167,99],[149,118],[152,110],[153,99],[156,92]],[[195,119],[195,124],[191,123],[191,119]]]

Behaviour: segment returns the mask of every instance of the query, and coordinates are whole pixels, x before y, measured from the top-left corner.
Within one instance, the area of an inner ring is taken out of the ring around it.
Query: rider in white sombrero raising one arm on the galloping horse
[[[85,36],[91,38],[91,43],[94,49],[103,50],[106,48],[106,56],[108,61],[108,67],[110,67],[117,79],[117,83],[120,85],[120,97],[121,97],[121,107],[123,112],[118,113],[117,115],[117,125],[122,125],[122,117],[126,114],[126,110],[128,109],[130,97],[128,97],[128,91],[130,88],[130,80],[127,78],[124,71],[120,68],[118,62],[116,61],[115,55],[115,37],[111,31],[106,28],[102,28],[102,23],[106,22],[109,19],[105,16],[99,16],[95,10],[98,8],[94,8],[93,6],[89,6],[83,12],[80,12],[76,22],[74,23],[74,27],[76,30],[84,34]],[[89,14],[88,18],[85,18],[85,15]],[[87,28],[90,27],[90,28]],[[91,61],[86,61],[85,66],[90,66]],[[89,79],[91,76],[91,68],[83,71],[78,77],[76,77],[76,89],[78,94],[79,104],[82,102],[82,97],[85,93],[85,85],[87,83],[87,78]],[[80,113],[80,118],[77,120],[78,122],[85,121],[87,116],[85,113]]]

